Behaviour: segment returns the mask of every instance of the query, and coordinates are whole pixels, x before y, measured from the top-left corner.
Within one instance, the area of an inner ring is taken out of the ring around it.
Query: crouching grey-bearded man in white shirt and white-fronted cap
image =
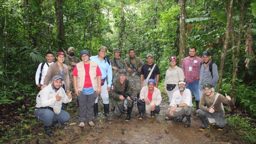
[[[187,121],[185,128],[188,128],[191,124],[190,115],[193,113],[192,95],[191,91],[186,87],[185,80],[178,81],[179,90],[173,93],[172,102],[170,108],[166,111],[167,117],[179,117],[176,121],[182,122],[186,116]]]

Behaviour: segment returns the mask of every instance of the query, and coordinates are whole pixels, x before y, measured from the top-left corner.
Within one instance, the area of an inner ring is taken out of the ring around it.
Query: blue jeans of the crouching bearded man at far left
[[[51,111],[49,109],[36,109],[35,110],[35,116],[39,120],[44,121],[45,126],[52,125],[53,119],[57,120],[61,124],[63,124],[64,122],[69,121],[69,119],[70,119],[70,115],[62,109],[60,110],[59,114],[55,114],[55,113],[53,113],[53,111]]]

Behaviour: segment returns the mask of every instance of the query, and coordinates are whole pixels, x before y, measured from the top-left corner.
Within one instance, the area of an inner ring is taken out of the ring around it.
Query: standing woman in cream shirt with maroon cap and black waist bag
[[[177,64],[176,57],[170,57],[170,67],[167,69],[165,74],[165,94],[168,95],[169,102],[172,102],[172,97],[174,91],[177,91],[178,88],[178,81],[184,80],[184,72],[181,68],[179,68]],[[165,120],[170,120],[169,117],[166,117]]]

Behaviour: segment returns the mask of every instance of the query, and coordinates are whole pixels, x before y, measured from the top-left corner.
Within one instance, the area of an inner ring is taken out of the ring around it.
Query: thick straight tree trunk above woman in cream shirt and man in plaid
[[[186,32],[185,32],[185,19],[186,19],[186,10],[185,10],[185,0],[180,0],[180,62],[179,66],[181,67],[182,61],[185,58],[186,53]]]

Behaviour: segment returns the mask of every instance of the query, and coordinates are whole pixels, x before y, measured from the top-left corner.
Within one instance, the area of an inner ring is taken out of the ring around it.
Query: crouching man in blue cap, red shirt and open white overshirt
[[[162,101],[161,92],[155,87],[155,80],[149,79],[147,86],[142,87],[140,90],[140,100],[137,103],[139,110],[139,120],[143,119],[143,112],[145,109],[150,111],[151,118],[155,117],[155,113],[160,112],[160,103]],[[146,104],[146,105],[145,105]]]

